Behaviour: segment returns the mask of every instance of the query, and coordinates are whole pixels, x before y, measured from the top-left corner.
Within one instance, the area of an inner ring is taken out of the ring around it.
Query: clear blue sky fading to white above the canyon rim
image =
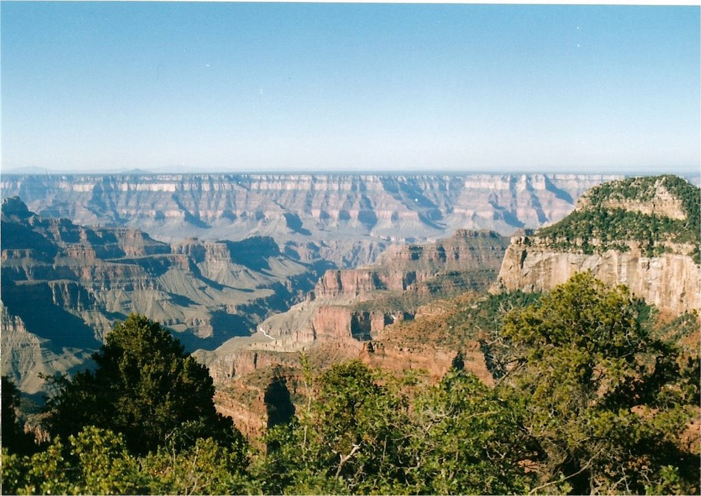
[[[698,6],[7,2],[3,170],[695,172]]]

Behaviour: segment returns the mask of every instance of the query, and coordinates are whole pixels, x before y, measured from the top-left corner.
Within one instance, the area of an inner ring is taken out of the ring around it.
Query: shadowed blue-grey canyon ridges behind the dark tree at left
[[[191,350],[214,349],[299,301],[327,267],[292,259],[270,238],[171,246],[135,229],[46,219],[16,198],[4,201],[0,229],[2,372],[32,393],[39,373],[83,363],[131,312]]]

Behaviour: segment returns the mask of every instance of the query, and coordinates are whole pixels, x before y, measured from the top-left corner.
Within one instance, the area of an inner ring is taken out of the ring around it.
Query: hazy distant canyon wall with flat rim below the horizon
[[[156,239],[272,236],[300,260],[372,262],[390,243],[456,229],[511,234],[569,213],[603,175],[4,175],[0,194],[45,217]],[[313,245],[310,247],[310,243]],[[311,248],[311,252],[309,250]]]

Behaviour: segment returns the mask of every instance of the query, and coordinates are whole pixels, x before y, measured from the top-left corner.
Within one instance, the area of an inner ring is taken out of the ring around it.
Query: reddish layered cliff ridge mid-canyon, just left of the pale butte
[[[368,267],[329,270],[308,301],[271,316],[259,328],[285,345],[369,339],[390,323],[411,318],[403,297],[421,300],[488,287],[506,246],[494,232],[463,229],[436,243],[390,250]]]

